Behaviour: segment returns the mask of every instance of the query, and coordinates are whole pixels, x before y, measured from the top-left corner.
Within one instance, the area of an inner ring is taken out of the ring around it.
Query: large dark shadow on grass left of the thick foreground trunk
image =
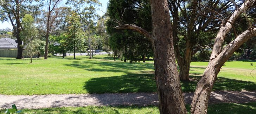
[[[156,92],[154,74],[91,78],[83,88],[89,93]]]

